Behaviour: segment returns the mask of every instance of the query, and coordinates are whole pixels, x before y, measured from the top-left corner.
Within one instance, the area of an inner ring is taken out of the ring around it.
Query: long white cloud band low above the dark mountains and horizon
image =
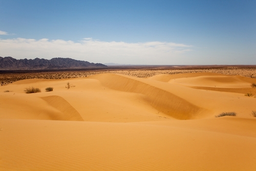
[[[181,54],[191,51],[191,47],[161,41],[127,43],[83,38],[79,42],[74,42],[47,38],[14,38],[0,39],[0,56],[12,56],[17,59],[69,57],[100,63],[171,65],[182,62]]]

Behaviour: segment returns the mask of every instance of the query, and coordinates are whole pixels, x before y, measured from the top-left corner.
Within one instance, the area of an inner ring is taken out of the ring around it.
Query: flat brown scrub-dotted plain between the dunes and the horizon
[[[243,68],[243,67],[224,67],[216,69],[167,69],[167,70],[152,70],[152,69],[140,69],[140,70],[113,70],[113,71],[74,71],[74,72],[44,72],[44,73],[19,73],[19,74],[0,74],[0,84],[5,86],[9,83],[23,80],[23,79],[65,79],[65,78],[80,78],[87,77],[100,73],[115,73],[123,74],[134,77],[151,77],[157,74],[180,74],[180,73],[220,73],[225,75],[241,75],[244,77],[256,78],[256,68]]]

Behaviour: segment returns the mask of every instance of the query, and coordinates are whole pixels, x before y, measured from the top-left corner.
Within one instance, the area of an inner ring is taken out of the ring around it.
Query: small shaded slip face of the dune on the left
[[[70,105],[69,102],[67,102],[65,99],[63,99],[60,96],[46,96],[41,97],[41,99],[48,102],[51,106],[56,108],[61,112],[61,114],[52,114],[51,117],[53,120],[70,120],[70,121],[83,121],[80,114],[73,108],[72,105]]]

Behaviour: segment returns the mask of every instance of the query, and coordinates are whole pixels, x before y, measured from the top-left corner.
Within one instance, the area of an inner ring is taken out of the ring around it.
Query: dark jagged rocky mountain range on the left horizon
[[[107,67],[101,63],[75,60],[71,58],[48,59],[14,59],[10,56],[0,56],[0,70],[51,70],[51,69],[79,69],[91,67]]]

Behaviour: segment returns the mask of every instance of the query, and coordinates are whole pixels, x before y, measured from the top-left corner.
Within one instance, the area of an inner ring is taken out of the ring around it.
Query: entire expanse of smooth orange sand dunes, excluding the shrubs
[[[217,73],[16,81],[0,87],[0,170],[256,170],[252,82]]]

